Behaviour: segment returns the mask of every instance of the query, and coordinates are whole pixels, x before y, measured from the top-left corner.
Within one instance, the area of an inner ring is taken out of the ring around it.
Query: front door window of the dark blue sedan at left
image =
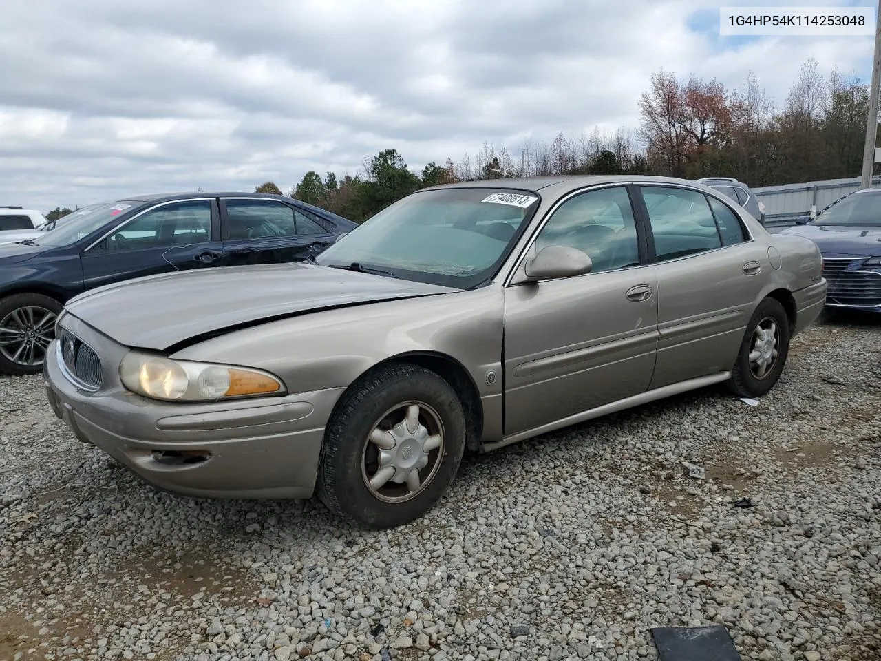
[[[170,248],[211,238],[211,201],[174,202],[142,213],[100,241],[94,249],[117,252]]]

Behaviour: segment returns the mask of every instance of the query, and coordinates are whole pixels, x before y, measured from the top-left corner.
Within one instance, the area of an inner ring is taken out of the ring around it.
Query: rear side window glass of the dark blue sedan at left
[[[327,234],[317,220],[274,200],[226,200],[224,241]]]

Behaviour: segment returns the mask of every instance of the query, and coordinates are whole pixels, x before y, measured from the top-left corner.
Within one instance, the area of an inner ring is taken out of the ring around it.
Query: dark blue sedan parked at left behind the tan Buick
[[[357,227],[290,197],[190,193],[92,204],[41,236],[0,245],[0,372],[42,370],[65,301],[168,271],[297,262]]]

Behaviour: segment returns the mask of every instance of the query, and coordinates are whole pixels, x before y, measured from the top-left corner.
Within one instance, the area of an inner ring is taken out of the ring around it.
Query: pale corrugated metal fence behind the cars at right
[[[795,225],[796,218],[820,211],[839,197],[860,189],[860,177],[829,179],[825,182],[786,183],[765,186],[752,192],[765,204],[765,223],[769,229]],[[881,185],[881,176],[872,178],[872,186]]]

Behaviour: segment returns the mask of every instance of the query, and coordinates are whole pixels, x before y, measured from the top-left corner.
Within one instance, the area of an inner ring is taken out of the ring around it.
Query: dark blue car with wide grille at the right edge
[[[881,189],[850,193],[781,234],[801,234],[823,255],[826,305],[881,312]]]

